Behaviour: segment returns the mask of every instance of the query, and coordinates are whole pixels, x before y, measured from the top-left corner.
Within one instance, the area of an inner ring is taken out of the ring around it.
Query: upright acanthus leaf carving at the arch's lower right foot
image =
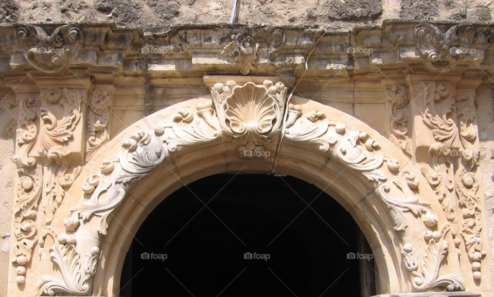
[[[451,230],[451,224],[443,226],[441,231],[427,231],[424,238],[427,242],[426,253],[422,265],[418,265],[418,255],[415,248],[406,244],[402,248],[402,260],[405,269],[413,275],[412,287],[415,291],[431,291],[437,287],[447,291],[464,291],[465,282],[455,274],[440,275],[440,268],[445,264],[449,244],[446,235]]]

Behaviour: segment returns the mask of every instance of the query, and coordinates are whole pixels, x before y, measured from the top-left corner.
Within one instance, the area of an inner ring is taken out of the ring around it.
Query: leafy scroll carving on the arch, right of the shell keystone
[[[393,184],[403,195],[402,199],[390,194],[389,183],[381,183],[387,180],[381,171],[384,162],[384,154],[380,152],[377,141],[369,138],[369,135],[361,131],[347,131],[343,123],[329,121],[325,115],[317,110],[308,112],[303,116],[301,106],[290,104],[288,108],[285,137],[295,142],[319,144],[322,152],[333,152],[348,167],[360,171],[369,181],[380,183],[379,195],[384,203],[395,215],[394,229],[397,231],[407,228],[407,219],[404,212],[410,212],[415,217],[422,213],[424,224],[428,227],[437,225],[437,215],[430,208],[427,201],[419,201],[419,196],[412,190],[418,187],[418,179],[409,171],[399,171],[397,160],[387,158],[387,168],[391,172],[399,172],[400,180],[394,180]],[[406,188],[405,188],[406,187]]]

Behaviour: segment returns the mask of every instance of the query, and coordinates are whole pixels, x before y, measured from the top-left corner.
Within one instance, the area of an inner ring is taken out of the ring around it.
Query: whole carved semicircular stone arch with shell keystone
[[[457,231],[434,190],[387,138],[332,107],[287,102],[283,83],[229,81],[94,151],[41,230],[40,261],[56,269],[40,265],[38,292],[115,295],[132,233],[161,197],[243,167],[293,175],[337,199],[371,244],[381,293],[478,287],[460,269]]]

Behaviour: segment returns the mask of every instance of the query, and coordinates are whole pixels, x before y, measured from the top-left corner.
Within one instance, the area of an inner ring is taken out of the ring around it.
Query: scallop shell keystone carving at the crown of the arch
[[[266,80],[262,85],[248,82],[239,86],[235,81],[228,81],[226,85],[215,84],[211,97],[219,124],[238,143],[240,156],[254,155],[245,152],[264,151],[264,145],[279,134],[287,99],[285,84],[273,85]]]

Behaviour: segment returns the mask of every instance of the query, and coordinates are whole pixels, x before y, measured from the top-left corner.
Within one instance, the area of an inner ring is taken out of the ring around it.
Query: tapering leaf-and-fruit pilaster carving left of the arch
[[[25,282],[26,266],[39,236],[39,210],[44,214],[41,224],[50,224],[65,191],[81,172],[77,162],[83,160],[78,153],[83,145],[78,140],[84,138],[81,121],[87,91],[74,88],[74,84],[60,88],[45,83],[39,80],[40,95],[25,86],[15,89],[20,121],[15,155],[19,176],[12,262],[19,285]]]

